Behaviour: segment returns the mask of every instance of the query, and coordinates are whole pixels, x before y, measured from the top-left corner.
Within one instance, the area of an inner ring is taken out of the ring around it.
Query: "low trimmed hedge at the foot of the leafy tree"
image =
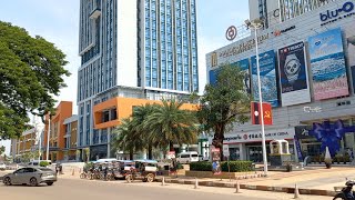
[[[222,171],[229,171],[229,163],[227,161],[223,161],[221,163]],[[231,172],[242,172],[242,171],[254,171],[253,162],[252,161],[230,161]],[[200,161],[200,162],[192,162],[190,163],[191,171],[212,171],[212,162],[210,161]]]

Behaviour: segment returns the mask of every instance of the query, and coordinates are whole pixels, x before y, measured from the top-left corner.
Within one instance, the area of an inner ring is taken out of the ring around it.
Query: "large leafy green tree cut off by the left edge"
[[[32,38],[11,23],[0,21],[0,139],[19,137],[28,112],[42,117],[53,112],[63,77],[65,54],[42,37]]]

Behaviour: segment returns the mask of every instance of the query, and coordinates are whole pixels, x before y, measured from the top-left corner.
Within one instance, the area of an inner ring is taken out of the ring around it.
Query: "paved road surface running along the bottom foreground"
[[[71,199],[146,199],[158,200],[182,200],[182,199],[194,199],[194,200],[215,200],[215,199],[248,199],[248,200],[266,200],[266,199],[292,199],[293,194],[275,193],[275,192],[263,192],[242,190],[242,193],[234,193],[234,189],[229,188],[212,188],[212,187],[200,187],[200,189],[193,189],[193,186],[184,184],[168,184],[161,186],[159,182],[143,183],[136,181],[133,183],[126,183],[125,181],[90,181],[90,180],[78,180],[70,178],[62,178],[52,187],[41,184],[40,187],[26,187],[26,186],[12,186],[6,187],[0,184],[0,193],[3,199],[51,199],[62,200],[67,198]],[[312,197],[303,196],[302,199],[331,199],[329,197]]]

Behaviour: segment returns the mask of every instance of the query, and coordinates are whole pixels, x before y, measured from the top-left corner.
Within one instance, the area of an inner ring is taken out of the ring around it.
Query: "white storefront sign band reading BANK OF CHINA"
[[[281,129],[265,131],[266,140],[293,139],[295,137],[295,129]],[[235,134],[226,134],[223,143],[243,143],[243,142],[261,142],[262,133],[258,132],[240,132]]]

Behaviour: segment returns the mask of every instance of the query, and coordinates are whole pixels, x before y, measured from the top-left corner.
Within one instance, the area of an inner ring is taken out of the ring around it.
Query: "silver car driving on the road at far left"
[[[48,186],[52,186],[55,181],[57,174],[53,170],[36,167],[21,168],[16,170],[13,173],[9,173],[3,177],[3,183],[6,186],[30,184],[34,187],[42,182],[47,183]]]

